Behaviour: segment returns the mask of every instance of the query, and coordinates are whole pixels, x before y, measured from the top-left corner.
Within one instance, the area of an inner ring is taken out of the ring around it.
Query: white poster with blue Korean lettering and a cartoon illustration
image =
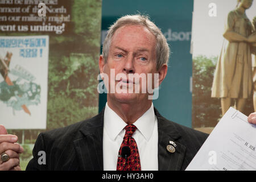
[[[46,129],[48,36],[0,36],[0,114],[7,129]]]

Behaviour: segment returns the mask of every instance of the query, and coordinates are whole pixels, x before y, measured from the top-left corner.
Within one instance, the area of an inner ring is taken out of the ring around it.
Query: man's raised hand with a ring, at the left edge
[[[0,125],[0,155],[5,152],[9,155],[9,160],[2,162],[0,158],[0,171],[14,170],[20,171],[19,154],[23,152],[22,146],[18,143],[16,135],[8,135],[3,125]]]

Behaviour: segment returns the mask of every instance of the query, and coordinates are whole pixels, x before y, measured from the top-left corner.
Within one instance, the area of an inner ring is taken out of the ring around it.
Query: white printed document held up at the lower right
[[[230,107],[186,170],[256,170],[256,125]]]

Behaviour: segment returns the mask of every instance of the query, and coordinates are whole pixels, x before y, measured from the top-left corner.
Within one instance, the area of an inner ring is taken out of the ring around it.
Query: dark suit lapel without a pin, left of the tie
[[[104,110],[85,122],[79,130],[81,137],[73,141],[80,170],[103,170]]]

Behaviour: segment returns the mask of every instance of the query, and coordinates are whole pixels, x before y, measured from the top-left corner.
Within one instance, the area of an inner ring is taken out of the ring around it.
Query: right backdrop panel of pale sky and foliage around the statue
[[[193,96],[192,127],[210,133],[222,117],[220,98],[211,97],[213,76],[224,43],[228,14],[236,0],[195,0],[192,23]],[[256,16],[256,2],[246,10],[250,21]],[[233,100],[234,104],[234,100]],[[243,114],[253,109],[253,95],[246,101]]]

